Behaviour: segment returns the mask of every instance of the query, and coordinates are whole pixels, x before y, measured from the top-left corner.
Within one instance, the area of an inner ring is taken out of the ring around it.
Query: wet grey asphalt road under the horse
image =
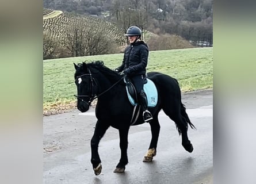
[[[102,173],[94,175],[90,163],[90,139],[96,118],[87,113],[68,113],[44,117],[44,183],[213,183],[213,91],[182,94],[190,120],[188,136],[194,146],[190,154],[181,145],[175,124],[163,112],[159,114],[161,131],[156,156],[143,163],[151,140],[150,125],[131,127],[125,173],[113,173],[120,159],[119,133],[109,128],[99,145]]]

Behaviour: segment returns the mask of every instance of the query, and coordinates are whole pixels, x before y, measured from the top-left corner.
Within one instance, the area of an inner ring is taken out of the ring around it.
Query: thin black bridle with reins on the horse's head
[[[97,85],[97,82],[96,82],[96,80],[93,78],[93,76],[91,75],[91,71],[89,70],[89,68],[88,68],[88,71],[89,71],[89,74],[82,74],[82,75],[79,75],[79,76],[76,77],[75,81],[77,81],[77,80],[78,80],[79,78],[81,78],[82,76],[90,76],[90,89],[91,89],[90,95],[75,95],[75,94],[74,94],[74,96],[77,97],[77,99],[81,100],[82,102],[85,102],[85,103],[86,103],[87,105],[89,105],[89,106],[91,105],[91,102],[92,102],[94,99],[100,97],[102,94],[104,94],[104,93],[106,93],[107,91],[109,91],[110,89],[112,89],[112,87],[116,86],[117,83],[119,83],[119,82],[124,78],[124,76],[121,77],[121,78],[119,79],[119,81],[117,81],[116,83],[114,83],[112,86],[110,86],[108,89],[106,89],[105,91],[103,91],[101,94],[97,95],[97,94],[96,94],[97,92],[94,93],[94,90],[93,90],[94,86],[95,86],[95,87],[98,86],[98,85]],[[97,91],[97,89],[96,89],[95,91]],[[81,97],[89,97],[89,101],[86,102],[86,101],[85,101],[84,99],[82,99]]]

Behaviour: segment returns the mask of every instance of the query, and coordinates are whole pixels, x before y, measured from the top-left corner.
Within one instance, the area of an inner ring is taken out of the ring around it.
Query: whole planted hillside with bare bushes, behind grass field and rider
[[[116,23],[98,17],[43,9],[44,59],[120,53],[127,39]],[[192,48],[176,34],[143,30],[150,51]]]

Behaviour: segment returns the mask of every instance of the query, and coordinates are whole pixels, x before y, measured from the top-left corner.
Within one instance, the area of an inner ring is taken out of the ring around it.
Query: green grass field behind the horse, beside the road
[[[77,93],[74,83],[74,64],[93,60],[104,61],[114,69],[120,66],[123,53],[65,59],[44,60],[43,103],[44,109],[56,104],[75,102]],[[213,49],[190,48],[166,51],[151,51],[147,71],[158,71],[176,78],[183,92],[213,87]]]

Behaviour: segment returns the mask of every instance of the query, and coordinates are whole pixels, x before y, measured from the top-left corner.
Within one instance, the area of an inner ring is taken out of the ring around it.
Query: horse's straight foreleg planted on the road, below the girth
[[[114,173],[123,173],[125,170],[125,166],[128,163],[128,156],[127,156],[127,148],[128,148],[128,132],[129,128],[127,129],[119,129],[119,138],[120,138],[120,149],[121,149],[121,158],[119,163],[114,170]]]

